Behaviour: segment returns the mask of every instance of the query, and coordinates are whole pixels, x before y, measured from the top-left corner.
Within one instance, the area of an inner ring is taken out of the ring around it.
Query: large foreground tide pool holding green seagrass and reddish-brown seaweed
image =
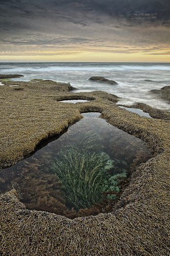
[[[29,209],[69,217],[79,209],[93,209],[90,214],[104,211],[108,204],[111,209],[130,169],[151,156],[140,139],[99,118],[100,113],[82,115],[57,140],[0,170],[1,191],[15,187]]]

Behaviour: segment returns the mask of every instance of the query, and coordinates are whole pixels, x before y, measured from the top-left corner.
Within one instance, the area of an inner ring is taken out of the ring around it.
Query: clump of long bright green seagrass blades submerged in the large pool
[[[61,150],[57,155],[50,167],[62,182],[67,201],[76,209],[98,202],[103,184],[110,178],[105,169],[108,161],[105,155],[88,150],[83,150],[82,154],[74,148],[69,153]]]

